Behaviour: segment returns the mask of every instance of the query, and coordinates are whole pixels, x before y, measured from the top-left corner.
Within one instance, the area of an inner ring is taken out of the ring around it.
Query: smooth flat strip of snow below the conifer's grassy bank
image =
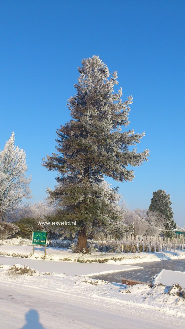
[[[29,259],[29,258],[17,258],[17,257],[6,257],[0,256],[0,264],[14,265],[21,264],[30,266],[41,272],[60,272],[66,275],[93,275],[95,273],[106,273],[117,272],[123,270],[133,270],[142,268],[141,266],[130,266],[130,265],[117,265],[106,264],[106,263],[78,263],[78,262],[63,262],[63,261],[45,261],[40,259]],[[120,282],[121,283],[121,282]]]

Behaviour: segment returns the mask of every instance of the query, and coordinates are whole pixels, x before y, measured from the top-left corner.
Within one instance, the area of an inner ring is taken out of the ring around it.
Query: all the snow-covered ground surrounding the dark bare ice
[[[183,259],[185,251],[82,255],[47,247],[43,259],[44,248],[32,255],[30,240],[11,240],[0,245],[0,328],[185,328],[184,272],[161,271],[153,288],[91,279],[139,267],[128,263]]]

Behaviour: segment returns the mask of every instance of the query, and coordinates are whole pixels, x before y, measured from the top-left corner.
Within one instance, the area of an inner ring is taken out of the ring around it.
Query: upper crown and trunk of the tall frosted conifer
[[[129,149],[140,142],[144,133],[121,131],[121,126],[129,124],[129,105],[133,98],[129,96],[122,102],[122,89],[114,92],[114,86],[118,84],[117,72],[110,77],[108,67],[98,56],[84,59],[78,71],[78,84],[74,85],[76,94],[68,100],[72,119],[57,130],[58,154],[47,155],[44,166],[58,171],[58,186],[53,192],[48,191],[49,194],[63,197],[67,189],[67,194],[71,193],[73,198],[73,204],[67,208],[70,218],[75,218],[79,209],[82,212],[77,226],[78,242],[85,246],[87,230],[93,229],[88,203],[84,202],[88,190],[92,194],[94,184],[101,183],[104,176],[119,182],[132,181],[134,172],[128,166],[142,164],[149,151],[137,153],[136,148]],[[79,193],[73,196],[79,186]],[[101,184],[98,186],[100,188]]]

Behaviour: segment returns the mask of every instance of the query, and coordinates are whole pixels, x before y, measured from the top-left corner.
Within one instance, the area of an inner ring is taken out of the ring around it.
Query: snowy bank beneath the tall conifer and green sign
[[[10,239],[13,240],[13,239]],[[20,241],[19,241],[20,242]],[[13,241],[15,243],[15,241]],[[36,246],[32,255],[32,245],[0,245],[0,255],[13,257],[27,257],[30,259],[42,259],[44,248]],[[109,264],[119,261],[119,264],[137,264],[143,262],[155,262],[161,260],[185,259],[185,250],[154,252],[154,253],[109,253],[94,251],[91,254],[75,254],[70,249],[47,247],[46,260],[53,261],[76,261],[76,262],[108,262]]]

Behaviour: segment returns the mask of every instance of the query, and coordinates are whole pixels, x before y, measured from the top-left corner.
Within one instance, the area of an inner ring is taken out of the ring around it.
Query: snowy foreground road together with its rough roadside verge
[[[27,273],[21,275],[21,271]],[[87,276],[46,274],[20,265],[1,265],[0,291],[2,329],[185,326],[185,299],[169,294],[169,287],[162,285],[128,287]]]

